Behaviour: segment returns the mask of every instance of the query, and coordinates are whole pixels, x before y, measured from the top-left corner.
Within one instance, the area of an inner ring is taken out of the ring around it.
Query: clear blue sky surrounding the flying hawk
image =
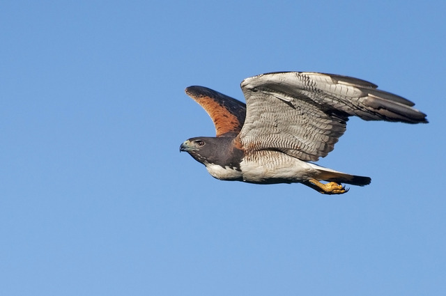
[[[1,1],[0,295],[446,295],[445,1]],[[349,75],[427,125],[352,118],[341,196],[212,178],[184,93]]]

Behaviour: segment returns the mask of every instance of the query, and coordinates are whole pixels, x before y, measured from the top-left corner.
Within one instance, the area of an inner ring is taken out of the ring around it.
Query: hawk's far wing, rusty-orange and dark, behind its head
[[[189,86],[185,91],[208,112],[217,137],[234,137],[240,132],[246,115],[243,102],[203,86]]]

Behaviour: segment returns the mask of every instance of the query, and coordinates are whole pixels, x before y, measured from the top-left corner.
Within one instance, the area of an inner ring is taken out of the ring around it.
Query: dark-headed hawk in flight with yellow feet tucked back
[[[342,184],[371,178],[318,166],[346,131],[349,116],[427,123],[413,102],[362,79],[317,72],[273,72],[241,83],[246,104],[203,86],[185,92],[212,118],[216,137],[186,140],[186,151],[213,177],[256,184],[305,184],[343,194]],[[325,183],[321,182],[325,181]]]

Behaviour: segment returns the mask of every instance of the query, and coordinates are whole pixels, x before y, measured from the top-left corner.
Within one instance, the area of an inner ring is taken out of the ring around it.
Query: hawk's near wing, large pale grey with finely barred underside
[[[333,150],[348,116],[427,123],[413,102],[352,77],[277,72],[247,78],[241,87],[247,115],[240,141],[247,152],[279,150],[316,161]]]

